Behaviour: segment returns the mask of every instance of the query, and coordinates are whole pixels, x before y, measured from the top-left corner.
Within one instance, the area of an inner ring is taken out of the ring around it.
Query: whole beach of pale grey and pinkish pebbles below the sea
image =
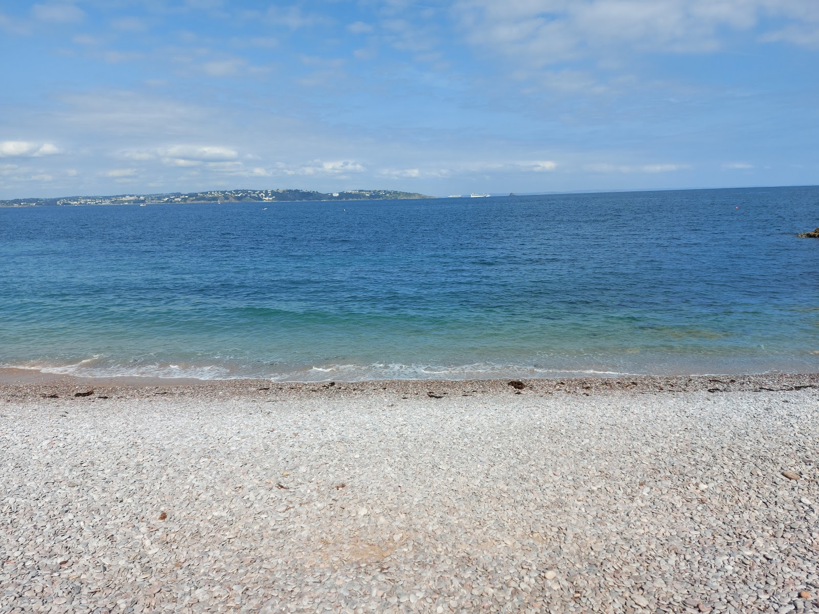
[[[819,376],[0,386],[0,612],[817,612]]]

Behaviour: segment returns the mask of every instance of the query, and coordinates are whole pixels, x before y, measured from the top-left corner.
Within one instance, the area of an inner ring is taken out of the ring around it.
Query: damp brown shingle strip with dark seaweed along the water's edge
[[[523,383],[522,389],[509,385]],[[779,373],[756,375],[629,376],[629,377],[511,377],[471,380],[365,380],[365,381],[271,381],[267,379],[198,380],[161,377],[78,377],[25,369],[0,369],[0,399],[66,398],[81,393],[85,397],[147,398],[153,395],[254,397],[265,395],[356,395],[378,392],[400,395],[463,395],[509,392],[525,395],[600,395],[610,392],[762,392],[799,391],[819,388],[819,373]],[[85,395],[93,391],[90,395]],[[56,396],[53,396],[56,395]]]

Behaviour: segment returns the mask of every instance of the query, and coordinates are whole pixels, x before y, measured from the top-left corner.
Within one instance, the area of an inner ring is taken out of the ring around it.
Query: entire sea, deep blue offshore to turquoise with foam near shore
[[[817,187],[0,209],[0,366],[816,372],[817,225]]]

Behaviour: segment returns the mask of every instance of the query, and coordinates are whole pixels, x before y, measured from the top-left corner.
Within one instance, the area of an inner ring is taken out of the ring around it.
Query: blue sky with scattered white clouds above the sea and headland
[[[817,0],[0,0],[0,198],[819,183]]]

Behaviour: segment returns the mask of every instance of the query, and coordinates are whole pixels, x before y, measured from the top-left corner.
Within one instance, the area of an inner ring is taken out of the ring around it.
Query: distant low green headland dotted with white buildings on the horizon
[[[165,194],[118,194],[116,196],[62,196],[60,198],[15,198],[0,201],[0,207],[71,205],[165,205],[208,202],[287,202],[287,201],[379,201],[396,198],[434,198],[416,192],[396,190],[209,190],[207,192],[170,192]]]

